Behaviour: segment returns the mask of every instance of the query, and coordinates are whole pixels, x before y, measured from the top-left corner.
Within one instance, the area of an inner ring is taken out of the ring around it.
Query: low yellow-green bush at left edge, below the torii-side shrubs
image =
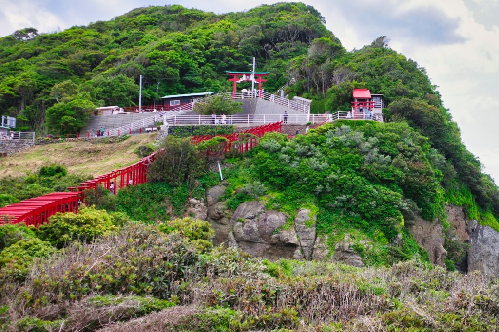
[[[54,252],[52,245],[38,238],[15,242],[0,253],[0,267],[6,264],[27,265],[32,258],[45,258]]]

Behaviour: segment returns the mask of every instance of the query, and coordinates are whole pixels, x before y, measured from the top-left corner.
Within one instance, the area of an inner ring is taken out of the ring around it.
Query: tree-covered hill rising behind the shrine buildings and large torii
[[[414,175],[407,183],[438,182],[428,186],[425,199],[435,211],[426,213],[439,215],[450,201],[499,230],[498,188],[466,150],[424,68],[390,49],[384,36],[348,52],[324,22],[303,3],[221,15],[170,5],[58,33],[26,28],[0,39],[0,112],[16,116],[18,130],[75,132],[94,107],[135,105],[139,75],[143,103],[153,104],[157,95],[230,91],[225,70],[249,70],[255,56],[256,69],[270,71],[266,91],[294,82],[286,93],[313,99],[314,113],[348,110],[354,87],[383,94],[387,119],[407,121],[431,147],[422,148],[432,167],[397,165]]]

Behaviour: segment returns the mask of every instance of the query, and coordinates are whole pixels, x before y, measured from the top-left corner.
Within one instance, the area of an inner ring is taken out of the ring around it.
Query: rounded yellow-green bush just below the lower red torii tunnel
[[[57,212],[49,218],[48,224],[39,227],[39,237],[59,248],[72,240],[91,242],[96,236],[109,235],[116,230],[113,219],[95,206],[81,207],[78,213]]]

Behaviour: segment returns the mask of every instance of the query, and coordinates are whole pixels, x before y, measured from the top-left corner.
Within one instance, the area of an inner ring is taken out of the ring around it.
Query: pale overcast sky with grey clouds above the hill
[[[351,50],[380,35],[427,69],[463,141],[499,184],[499,0],[310,0],[326,27]],[[2,0],[0,35],[40,32],[108,20],[136,7],[182,4],[217,13],[261,0]],[[376,92],[376,91],[373,91]]]

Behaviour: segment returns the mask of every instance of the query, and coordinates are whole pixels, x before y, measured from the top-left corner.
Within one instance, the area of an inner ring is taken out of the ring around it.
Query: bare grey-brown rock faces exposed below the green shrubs
[[[326,245],[327,235],[317,236],[316,217],[309,210],[299,210],[292,225],[287,223],[285,214],[266,210],[258,201],[244,202],[232,213],[224,201],[219,201],[227,184],[224,181],[207,190],[207,205],[202,206],[203,212],[196,210],[200,207],[195,204],[198,202],[191,203],[191,212],[205,216],[215,229],[216,245],[225,243],[269,260],[330,259],[353,266],[364,265],[347,235],[330,253]],[[455,262],[456,269],[462,273],[478,270],[499,277],[499,233],[468,219],[462,207],[448,204],[446,211],[454,240],[469,244],[465,256]],[[432,263],[445,266],[447,251],[442,223],[417,217],[408,224],[408,228],[419,245],[428,251]]]

